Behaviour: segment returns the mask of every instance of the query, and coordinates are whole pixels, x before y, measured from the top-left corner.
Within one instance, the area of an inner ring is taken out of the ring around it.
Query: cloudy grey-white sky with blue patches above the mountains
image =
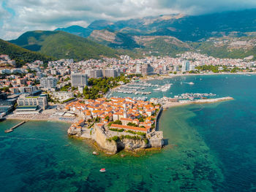
[[[94,20],[127,20],[149,15],[200,15],[256,8],[256,0],[0,0],[0,38],[25,31],[88,26]]]

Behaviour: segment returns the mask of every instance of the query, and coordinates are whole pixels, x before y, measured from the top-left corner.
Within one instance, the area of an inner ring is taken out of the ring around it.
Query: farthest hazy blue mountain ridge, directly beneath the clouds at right
[[[96,20],[90,30],[108,29],[129,35],[173,36],[182,41],[222,37],[222,33],[256,31],[256,9],[208,15],[159,15],[156,17],[119,20]],[[66,30],[62,28],[61,30]],[[84,28],[86,30],[86,28]],[[92,31],[91,31],[92,32]]]

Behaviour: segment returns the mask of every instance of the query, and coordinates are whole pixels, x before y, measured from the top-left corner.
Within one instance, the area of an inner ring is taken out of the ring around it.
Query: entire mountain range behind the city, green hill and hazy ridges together
[[[159,15],[95,20],[88,27],[28,31],[10,42],[55,58],[100,58],[121,53],[176,55],[196,51],[220,58],[256,57],[256,9],[209,15]]]

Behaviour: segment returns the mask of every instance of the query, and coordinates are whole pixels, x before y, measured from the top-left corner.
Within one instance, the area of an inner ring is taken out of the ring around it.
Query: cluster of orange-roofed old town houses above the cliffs
[[[149,101],[138,101],[127,98],[87,99],[85,103],[75,101],[67,104],[66,110],[78,114],[88,121],[98,118],[99,122],[108,124],[119,120],[125,128],[132,131],[148,132],[154,126],[154,118],[159,105],[152,105]],[[132,126],[130,126],[132,125]],[[115,128],[124,128],[115,124]]]

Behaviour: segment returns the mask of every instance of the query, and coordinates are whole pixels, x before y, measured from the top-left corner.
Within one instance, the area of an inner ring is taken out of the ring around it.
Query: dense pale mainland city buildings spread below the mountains
[[[244,59],[214,58],[200,53],[187,52],[177,55],[176,58],[148,56],[138,59],[121,55],[120,58],[89,59],[78,62],[74,62],[72,59],[61,59],[49,61],[44,66],[42,61],[34,61],[21,68],[15,68],[8,55],[0,55],[0,64],[0,88],[8,93],[8,98],[1,99],[0,105],[2,111],[10,112],[17,99],[16,97],[12,98],[12,95],[17,97],[21,95],[20,98],[24,93],[26,96],[38,96],[43,90],[60,102],[72,99],[72,97],[83,98],[84,88],[85,85],[88,85],[89,77],[118,77],[123,73],[125,76],[128,74],[146,76],[169,73],[212,73],[211,66],[214,66],[214,72],[255,72],[256,61],[252,61],[252,57]],[[117,84],[126,83],[118,81]],[[90,86],[89,89],[91,89]],[[106,92],[100,93],[101,96]],[[137,91],[138,94],[140,94],[139,92]],[[94,95],[96,96],[97,93]],[[86,96],[90,96],[90,91],[87,91]],[[45,108],[42,104],[41,106],[40,108]],[[118,114],[113,114],[111,117],[119,120]],[[126,125],[125,120],[123,121]]]

